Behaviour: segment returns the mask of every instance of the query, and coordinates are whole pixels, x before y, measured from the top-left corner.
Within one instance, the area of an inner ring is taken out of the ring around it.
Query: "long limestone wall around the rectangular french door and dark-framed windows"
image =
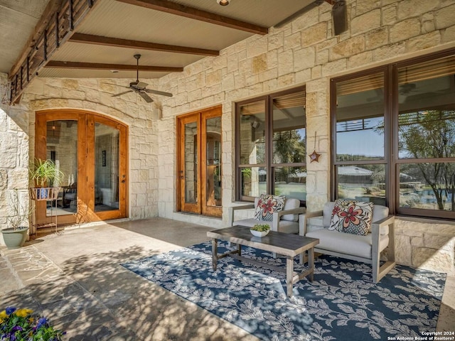
[[[330,192],[331,77],[454,48],[455,4],[448,0],[351,0],[348,31],[333,36],[331,6],[321,4],[267,36],[252,36],[159,80],[173,92],[159,122],[159,215],[213,227],[225,226],[234,202],[234,103],[262,94],[306,85],[307,144],[321,153],[319,163],[307,164],[307,208],[320,210]],[[223,104],[223,221],[178,215],[176,210],[175,117]],[[316,132],[316,141],[314,135]],[[453,229],[450,222],[412,223],[397,219],[397,259],[400,264],[454,271]],[[419,230],[420,232],[416,232]],[[432,231],[444,247],[425,244]],[[428,233],[428,232],[427,232]],[[417,235],[415,235],[417,234]],[[421,238],[421,239],[419,239]],[[407,250],[407,251],[405,251]],[[444,259],[442,261],[441,259]]]

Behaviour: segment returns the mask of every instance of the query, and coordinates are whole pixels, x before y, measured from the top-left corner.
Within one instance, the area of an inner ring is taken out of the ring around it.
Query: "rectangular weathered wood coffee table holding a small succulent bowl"
[[[286,273],[287,296],[292,297],[294,283],[308,276],[310,281],[314,279],[314,247],[319,244],[319,239],[302,237],[296,234],[270,231],[265,237],[255,237],[250,232],[250,227],[232,226],[224,229],[215,229],[207,232],[207,237],[212,239],[212,264],[216,270],[218,259],[230,256],[240,261],[248,261],[252,264],[264,266],[274,271]],[[218,240],[224,240],[237,244],[237,249],[218,254]],[[264,251],[276,252],[286,256],[286,269],[279,266],[265,264],[261,261],[242,256],[242,245],[255,247]],[[294,257],[308,251],[308,269],[301,273],[294,271]]]

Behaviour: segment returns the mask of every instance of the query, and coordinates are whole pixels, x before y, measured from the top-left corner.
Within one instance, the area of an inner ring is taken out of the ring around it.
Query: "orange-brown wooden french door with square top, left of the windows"
[[[221,217],[221,107],[177,119],[178,210]]]

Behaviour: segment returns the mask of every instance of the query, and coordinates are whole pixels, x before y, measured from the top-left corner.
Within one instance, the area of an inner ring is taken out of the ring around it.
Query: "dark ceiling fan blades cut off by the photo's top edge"
[[[333,33],[335,36],[343,33],[348,29],[348,12],[346,11],[346,1],[345,0],[315,0],[311,2],[308,6],[305,6],[303,9],[296,11],[296,13],[291,14],[287,18],[283,19],[279,23],[277,23],[274,27],[280,28],[289,21],[294,20],[298,16],[301,16],[303,13],[310,11],[311,9],[316,8],[317,6],[321,5],[324,1],[328,2],[332,5],[332,20],[333,20]]]

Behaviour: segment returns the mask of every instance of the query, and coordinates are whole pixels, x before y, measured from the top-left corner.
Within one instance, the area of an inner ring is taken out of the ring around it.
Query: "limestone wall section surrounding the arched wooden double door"
[[[35,78],[21,100],[21,114],[29,117],[27,127],[34,154],[35,112],[41,109],[86,109],[112,117],[129,126],[129,217],[141,219],[158,215],[158,127],[152,120],[154,105],[125,94],[112,97],[132,80]],[[153,82],[147,80],[146,82]]]

